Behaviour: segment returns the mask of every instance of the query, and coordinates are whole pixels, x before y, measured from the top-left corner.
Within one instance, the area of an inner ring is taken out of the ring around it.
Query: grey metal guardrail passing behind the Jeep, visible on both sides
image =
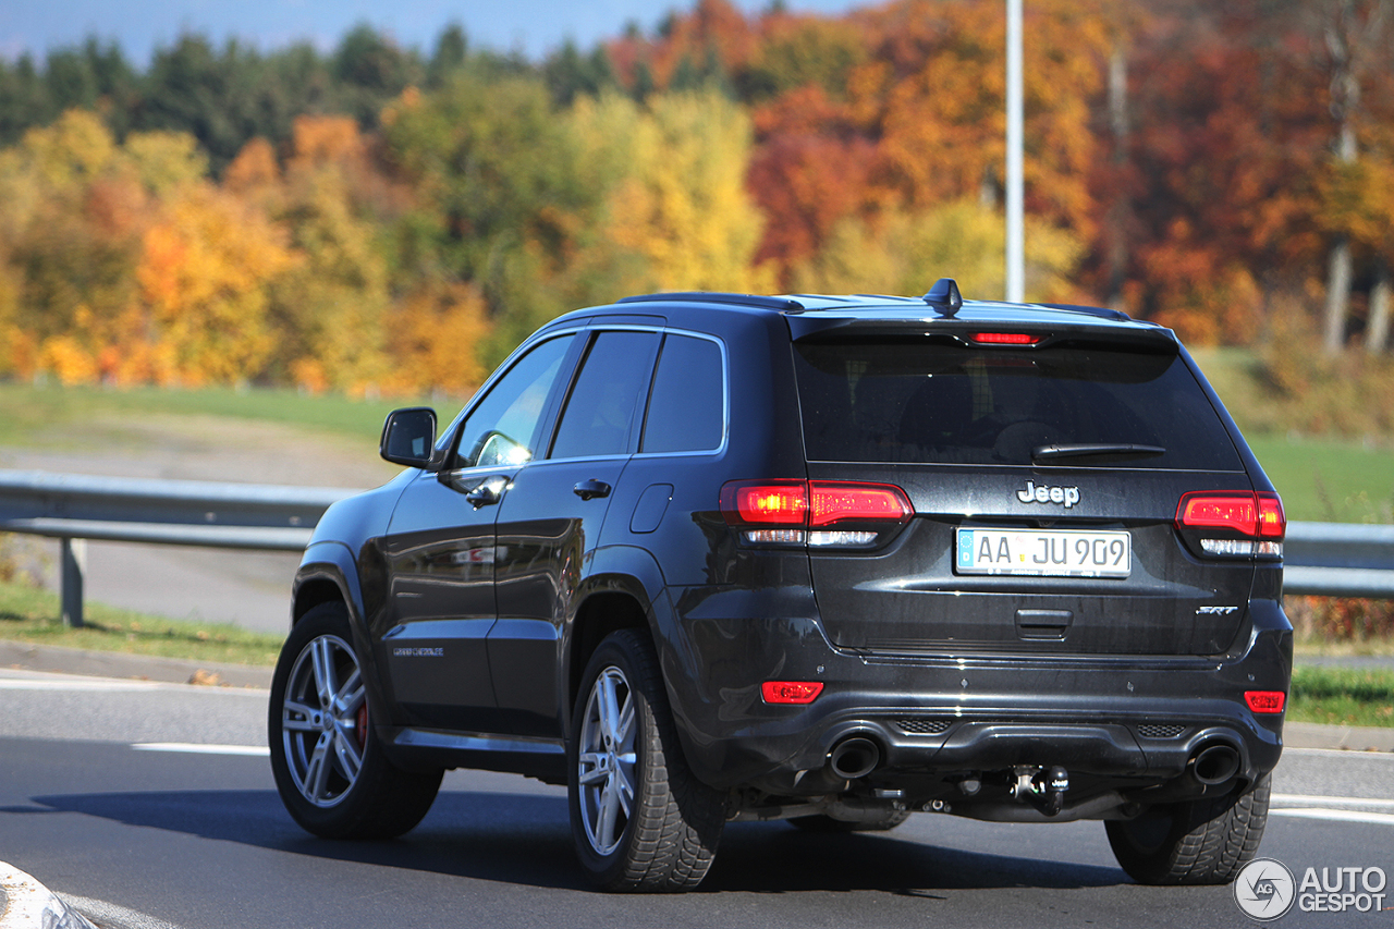
[[[61,541],[63,621],[82,625],[82,540],[300,551],[353,490],[0,470],[0,531]],[[1288,523],[1284,593],[1394,600],[1394,526]]]

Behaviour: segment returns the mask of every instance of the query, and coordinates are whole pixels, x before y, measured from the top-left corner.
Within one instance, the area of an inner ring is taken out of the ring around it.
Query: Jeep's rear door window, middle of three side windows
[[[655,332],[601,332],[585,357],[552,458],[625,455],[640,396],[654,370]]]

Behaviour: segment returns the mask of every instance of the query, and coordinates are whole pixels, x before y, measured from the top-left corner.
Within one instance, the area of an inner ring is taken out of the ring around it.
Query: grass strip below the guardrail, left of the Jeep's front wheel
[[[240,626],[164,619],[91,601],[84,612],[85,625],[68,629],[56,594],[0,583],[0,639],[11,642],[250,665],[276,664],[283,642]]]

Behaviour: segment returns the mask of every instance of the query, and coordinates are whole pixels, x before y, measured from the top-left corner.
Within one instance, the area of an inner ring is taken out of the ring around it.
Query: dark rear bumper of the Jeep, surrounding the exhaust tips
[[[1061,766],[1100,791],[1186,791],[1197,752],[1224,745],[1236,755],[1232,790],[1271,771],[1282,750],[1282,716],[1255,714],[1243,699],[1288,690],[1292,630],[1276,601],[1256,601],[1243,642],[1218,657],[866,656],[832,647],[814,619],[682,626],[672,657],[696,667],[669,675],[671,699],[689,764],[714,787],[933,798],[965,776]],[[769,706],[765,679],[824,690],[809,706]],[[877,746],[856,783],[828,773],[848,738]]]

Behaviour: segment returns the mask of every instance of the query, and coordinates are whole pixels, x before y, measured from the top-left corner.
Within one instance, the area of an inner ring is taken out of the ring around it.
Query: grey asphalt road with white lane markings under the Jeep
[[[106,929],[1246,922],[1230,889],[1133,884],[1098,823],[923,813],[884,836],[740,823],[697,893],[615,897],[581,882],[563,791],[456,771],[404,838],[328,843],[286,816],[263,756],[234,753],[262,743],[265,700],[261,690],[0,671],[0,861]],[[137,748],[152,742],[176,745]],[[1289,749],[1274,790],[1284,812],[1263,855],[1299,880],[1309,866],[1394,873],[1394,755]],[[1294,911],[1278,925],[1391,926],[1394,909]]]

